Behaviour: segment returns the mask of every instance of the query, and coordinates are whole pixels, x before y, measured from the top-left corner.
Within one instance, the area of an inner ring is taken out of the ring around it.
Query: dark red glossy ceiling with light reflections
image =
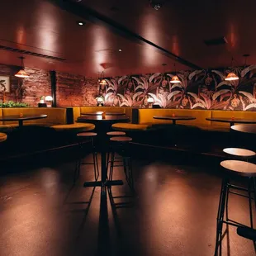
[[[66,0],[69,2],[69,0]],[[86,13],[74,15],[72,9],[63,10],[60,1],[10,0],[0,4],[0,45],[30,50],[66,59],[56,61],[30,55],[27,67],[57,69],[59,71],[97,76],[105,70],[107,76],[126,73],[151,73],[173,70],[173,58],[148,44],[139,44],[126,35],[109,29],[104,22],[87,19]],[[149,7],[148,0],[82,0],[75,2],[95,10],[115,24],[164,50],[202,68],[236,63],[244,64],[242,55],[250,54],[248,63],[256,62],[256,17],[254,1],[231,0],[171,0],[159,11]],[[86,21],[78,26],[76,21]],[[206,46],[203,40],[225,36],[226,45]],[[118,49],[122,49],[119,52]],[[0,62],[19,64],[21,54],[0,50]],[[177,64],[177,69],[190,69]]]

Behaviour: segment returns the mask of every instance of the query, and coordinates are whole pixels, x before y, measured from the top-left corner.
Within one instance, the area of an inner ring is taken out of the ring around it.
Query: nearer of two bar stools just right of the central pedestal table
[[[126,148],[129,142],[132,140],[132,138],[127,136],[116,136],[116,137],[111,137],[110,140],[111,142],[113,142],[113,144],[111,147],[109,180],[111,181],[113,178],[114,168],[122,166],[126,174],[126,181],[128,183],[128,186],[130,187],[130,190],[132,192],[135,192],[131,158]],[[116,151],[117,153],[121,154],[121,157],[116,157]]]

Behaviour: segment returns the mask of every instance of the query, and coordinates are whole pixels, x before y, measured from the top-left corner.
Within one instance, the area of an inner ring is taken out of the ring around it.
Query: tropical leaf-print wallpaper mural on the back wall
[[[225,81],[234,72],[239,80]],[[105,106],[149,107],[148,98],[163,108],[256,111],[256,65],[177,73],[148,73],[107,78],[100,87]]]

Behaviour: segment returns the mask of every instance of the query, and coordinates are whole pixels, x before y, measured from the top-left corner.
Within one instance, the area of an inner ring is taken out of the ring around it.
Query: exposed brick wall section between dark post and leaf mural
[[[70,73],[56,73],[58,107],[96,106],[98,94],[96,78],[85,78]]]

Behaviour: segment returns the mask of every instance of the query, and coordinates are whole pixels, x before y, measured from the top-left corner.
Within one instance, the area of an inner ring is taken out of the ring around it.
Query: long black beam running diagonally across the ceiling
[[[191,69],[202,69],[201,67],[197,66],[197,64],[193,64],[192,62],[188,61],[187,59],[183,59],[178,55],[174,55],[171,51],[164,49],[163,47],[154,44],[153,42],[146,40],[144,37],[136,34],[133,31],[130,31],[126,28],[126,26],[122,26],[118,22],[103,16],[101,13],[92,10],[89,7],[85,7],[83,4],[74,2],[72,0],[46,0],[48,2],[52,2],[55,6],[60,7],[61,9],[72,13],[78,17],[83,18],[83,20],[90,21],[94,24],[105,26],[112,32],[116,33],[119,36],[123,36],[128,40],[132,40],[139,44],[147,44],[153,46],[156,50],[160,53],[168,56],[171,59],[174,59],[180,64],[184,64]]]

